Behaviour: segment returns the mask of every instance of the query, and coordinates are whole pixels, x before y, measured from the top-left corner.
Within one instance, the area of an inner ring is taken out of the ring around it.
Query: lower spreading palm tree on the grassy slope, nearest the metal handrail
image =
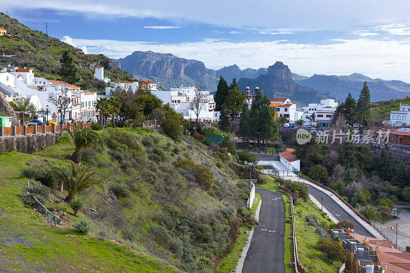
[[[104,187],[103,181],[97,178],[97,172],[87,164],[74,164],[73,161],[65,166],[54,166],[53,171],[64,185],[68,195],[66,201],[70,202],[76,194],[90,187]]]

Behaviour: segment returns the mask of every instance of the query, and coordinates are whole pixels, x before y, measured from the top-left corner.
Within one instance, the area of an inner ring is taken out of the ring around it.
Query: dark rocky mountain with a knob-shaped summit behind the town
[[[259,87],[269,98],[289,97],[294,102],[307,105],[309,102],[319,102],[325,96],[318,90],[299,85],[293,80],[292,72],[283,62],[277,61],[268,68],[267,74],[261,74],[255,79],[241,78],[238,81],[239,90],[249,86],[251,89]]]

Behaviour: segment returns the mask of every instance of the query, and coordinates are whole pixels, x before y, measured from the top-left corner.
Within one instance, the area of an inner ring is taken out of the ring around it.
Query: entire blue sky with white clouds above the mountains
[[[2,3],[26,26],[85,53],[121,58],[172,53],[207,68],[268,67],[292,72],[410,82],[409,1],[87,1]]]

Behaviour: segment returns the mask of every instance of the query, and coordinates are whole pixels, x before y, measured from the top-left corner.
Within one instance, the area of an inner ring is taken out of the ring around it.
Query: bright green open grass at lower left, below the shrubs
[[[45,218],[19,200],[28,181],[20,176],[20,167],[26,162],[45,162],[51,157],[67,155],[71,152],[71,145],[66,140],[63,138],[57,145],[38,154],[0,154],[2,268],[66,272],[180,272],[162,260],[115,242],[97,239],[92,235],[80,235],[70,226],[51,226]],[[68,219],[73,222],[78,219],[69,214],[72,210],[64,202],[55,207],[64,209]],[[10,244],[5,236],[17,236],[27,241]]]

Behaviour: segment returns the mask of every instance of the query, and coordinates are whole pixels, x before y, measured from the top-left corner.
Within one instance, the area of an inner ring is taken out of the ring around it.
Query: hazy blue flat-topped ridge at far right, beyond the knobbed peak
[[[372,79],[359,73],[345,76],[315,74],[310,78],[295,81],[303,86],[315,88],[321,93],[330,93],[343,101],[348,93],[357,99],[364,81],[367,81],[372,101],[396,99],[410,94],[409,83],[400,80]]]

